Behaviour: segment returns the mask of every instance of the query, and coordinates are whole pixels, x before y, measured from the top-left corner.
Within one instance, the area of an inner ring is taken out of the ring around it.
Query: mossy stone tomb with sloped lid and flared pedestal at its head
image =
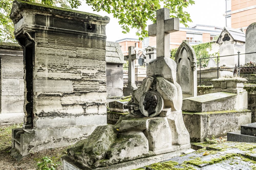
[[[251,123],[243,78],[211,80],[212,93],[183,100],[183,119],[192,141],[226,136],[240,125]]]

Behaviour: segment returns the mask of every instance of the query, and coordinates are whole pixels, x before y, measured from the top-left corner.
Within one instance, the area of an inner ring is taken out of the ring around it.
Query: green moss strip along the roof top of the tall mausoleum
[[[25,3],[25,4],[29,4],[29,5],[33,5],[33,6],[44,7],[44,8],[51,8],[51,9],[57,9],[57,10],[62,10],[62,11],[74,12],[74,13],[78,13],[78,14],[85,14],[85,15],[102,17],[102,16],[97,15],[97,14],[91,14],[91,13],[88,13],[88,12],[76,11],[76,10],[67,9],[67,8],[60,8],[60,7],[56,7],[56,6],[49,6],[49,5],[45,5],[45,4],[38,4],[38,3],[35,3],[35,2],[28,2],[28,1],[21,1],[21,0],[16,0],[16,2]]]

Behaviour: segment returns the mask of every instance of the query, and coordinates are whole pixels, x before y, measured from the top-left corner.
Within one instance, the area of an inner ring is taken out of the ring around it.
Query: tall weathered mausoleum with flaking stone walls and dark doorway
[[[106,124],[105,25],[109,17],[14,1],[10,18],[24,48],[22,155],[70,145]]]

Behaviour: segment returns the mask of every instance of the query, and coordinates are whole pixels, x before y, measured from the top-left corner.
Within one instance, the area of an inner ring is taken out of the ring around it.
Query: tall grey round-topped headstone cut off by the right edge
[[[252,53],[245,55],[245,63],[256,62],[256,22],[250,24],[246,29],[245,53]],[[241,51],[240,51],[241,52]]]

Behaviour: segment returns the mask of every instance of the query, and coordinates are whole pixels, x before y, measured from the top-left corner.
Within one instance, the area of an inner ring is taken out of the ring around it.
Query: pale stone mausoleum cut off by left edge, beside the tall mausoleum
[[[0,43],[0,125],[22,123],[24,119],[23,49],[17,43]]]

